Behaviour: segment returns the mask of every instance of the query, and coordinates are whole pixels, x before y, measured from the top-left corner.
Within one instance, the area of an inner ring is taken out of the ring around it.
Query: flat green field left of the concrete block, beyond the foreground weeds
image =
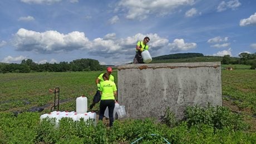
[[[67,109],[73,109],[78,96],[85,95],[89,102],[92,101],[97,90],[95,79],[104,72],[0,74],[0,111],[22,111],[32,106],[53,104],[54,94],[48,89],[54,88],[60,88],[60,100],[71,99],[71,107]],[[113,75],[117,78],[116,71]],[[65,107],[61,106],[61,109]]]

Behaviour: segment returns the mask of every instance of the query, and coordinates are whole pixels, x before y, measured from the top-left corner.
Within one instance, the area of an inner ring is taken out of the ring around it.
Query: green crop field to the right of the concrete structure
[[[248,109],[256,115],[256,71],[222,71],[222,94],[241,110]]]

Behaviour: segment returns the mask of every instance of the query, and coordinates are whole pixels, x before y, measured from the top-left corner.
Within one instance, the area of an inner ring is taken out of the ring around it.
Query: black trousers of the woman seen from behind
[[[100,101],[100,116],[99,120],[103,120],[105,110],[109,108],[109,126],[113,125],[114,122],[114,108],[115,108],[115,100],[101,100]]]

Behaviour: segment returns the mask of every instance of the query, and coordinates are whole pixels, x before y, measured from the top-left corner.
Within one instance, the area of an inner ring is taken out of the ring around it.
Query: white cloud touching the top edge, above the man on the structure
[[[193,5],[194,0],[121,0],[116,9],[127,12],[128,19],[145,19],[149,14],[164,16],[181,6]]]

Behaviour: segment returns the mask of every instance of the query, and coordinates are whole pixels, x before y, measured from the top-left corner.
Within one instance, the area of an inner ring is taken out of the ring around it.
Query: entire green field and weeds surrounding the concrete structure
[[[53,105],[54,94],[48,89],[60,88],[60,111],[75,111],[78,96],[87,96],[90,105],[95,79],[104,72],[0,74],[0,143],[131,143],[141,137],[139,143],[256,143],[256,71],[246,66],[222,70],[223,107],[188,107],[185,121],[166,111],[160,123],[124,119],[111,128],[70,119],[62,119],[58,128],[51,119],[40,122],[40,115]],[[117,84],[117,70],[112,74]],[[27,111],[35,106],[45,110]],[[93,110],[97,112],[99,104]]]

